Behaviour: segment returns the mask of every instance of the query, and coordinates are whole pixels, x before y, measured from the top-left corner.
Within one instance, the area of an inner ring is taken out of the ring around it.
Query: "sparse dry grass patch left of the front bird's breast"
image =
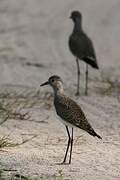
[[[40,92],[29,92],[27,94],[17,94],[15,92],[0,93],[0,125],[8,119],[30,120],[30,109],[44,107],[49,110],[52,107],[52,95]]]

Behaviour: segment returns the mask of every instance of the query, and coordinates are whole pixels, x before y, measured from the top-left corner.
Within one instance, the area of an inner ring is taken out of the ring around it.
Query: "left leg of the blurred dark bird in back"
[[[79,66],[79,59],[76,58],[76,63],[77,63],[77,92],[76,96],[80,95],[80,66]]]

